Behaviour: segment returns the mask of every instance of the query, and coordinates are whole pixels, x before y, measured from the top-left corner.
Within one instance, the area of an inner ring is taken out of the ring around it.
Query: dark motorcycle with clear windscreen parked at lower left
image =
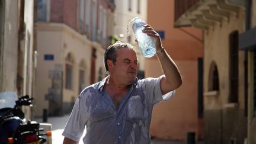
[[[0,92],[0,144],[5,143],[46,143],[52,133],[44,132],[36,121],[26,123],[21,105],[32,106],[33,98],[18,97],[16,92]]]

